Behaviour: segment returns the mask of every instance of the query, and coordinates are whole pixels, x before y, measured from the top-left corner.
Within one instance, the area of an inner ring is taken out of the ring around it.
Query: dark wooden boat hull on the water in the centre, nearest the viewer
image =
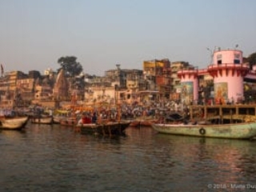
[[[122,135],[128,126],[130,121],[78,124],[76,127],[80,127],[81,134]]]

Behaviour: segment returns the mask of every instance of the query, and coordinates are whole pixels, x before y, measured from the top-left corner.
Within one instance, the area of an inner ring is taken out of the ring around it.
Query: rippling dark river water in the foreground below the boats
[[[256,191],[256,141],[82,135],[65,126],[0,132],[0,191]]]

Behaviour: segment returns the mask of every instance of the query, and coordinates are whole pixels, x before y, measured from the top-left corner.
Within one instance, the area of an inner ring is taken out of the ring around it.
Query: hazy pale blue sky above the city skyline
[[[5,71],[56,70],[75,56],[88,74],[168,58],[199,68],[210,50],[256,52],[255,0],[0,0]]]

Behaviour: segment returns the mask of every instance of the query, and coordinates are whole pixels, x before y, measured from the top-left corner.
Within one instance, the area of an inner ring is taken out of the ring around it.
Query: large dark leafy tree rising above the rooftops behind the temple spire
[[[63,69],[70,77],[74,77],[82,72],[82,65],[77,62],[77,58],[74,56],[59,58],[58,64],[61,65],[61,68],[59,68],[58,71]]]

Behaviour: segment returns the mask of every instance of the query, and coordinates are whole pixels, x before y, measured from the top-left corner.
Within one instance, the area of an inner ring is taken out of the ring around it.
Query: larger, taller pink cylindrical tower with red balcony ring
[[[242,63],[241,50],[214,51],[213,64],[208,66],[209,74],[214,78],[214,101],[225,104],[244,98],[243,78],[250,67]]]

